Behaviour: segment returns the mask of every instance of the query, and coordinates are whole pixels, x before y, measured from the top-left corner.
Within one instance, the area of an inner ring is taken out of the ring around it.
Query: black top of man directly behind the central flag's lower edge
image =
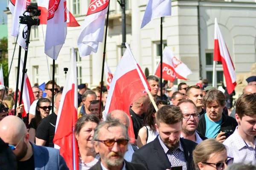
[[[134,135],[135,139],[138,138],[138,133],[140,128],[143,126],[143,119],[145,117],[145,113],[143,113],[141,116],[138,116],[131,108],[130,108],[130,114],[131,114],[131,120],[132,125],[134,128]]]

